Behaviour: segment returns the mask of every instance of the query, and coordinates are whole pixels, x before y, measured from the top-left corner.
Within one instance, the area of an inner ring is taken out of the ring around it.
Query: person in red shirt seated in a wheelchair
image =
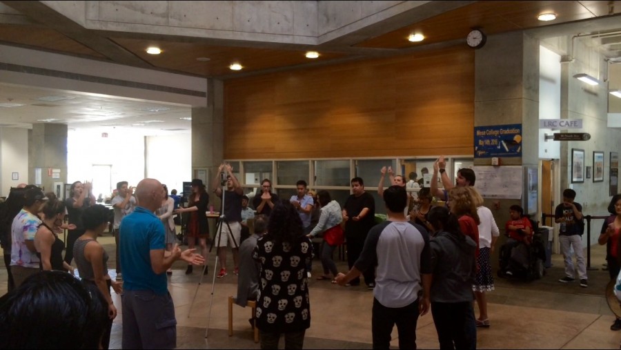
[[[500,269],[511,276],[520,266],[523,269],[529,266],[528,247],[533,243],[533,224],[529,217],[524,216],[524,209],[521,206],[512,205],[509,208],[509,215],[511,220],[504,226],[509,238],[500,249]],[[520,244],[524,244],[525,247],[520,247]]]

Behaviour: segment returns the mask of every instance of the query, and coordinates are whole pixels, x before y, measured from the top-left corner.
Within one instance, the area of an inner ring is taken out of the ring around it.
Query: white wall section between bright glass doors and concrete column
[[[192,181],[192,139],[187,135],[146,137],[146,176],[183,192],[183,182]],[[206,184],[209,186],[208,184]]]

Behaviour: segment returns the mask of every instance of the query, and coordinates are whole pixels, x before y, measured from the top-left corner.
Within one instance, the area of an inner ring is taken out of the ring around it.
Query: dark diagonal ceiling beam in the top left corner
[[[6,6],[21,12],[33,21],[37,21],[49,28],[61,32],[70,39],[73,39],[101,55],[108,57],[117,64],[125,64],[139,68],[153,68],[146,61],[125,50],[117,43],[106,37],[101,37],[97,32],[88,30],[80,26],[75,21],[68,19],[59,12],[52,10],[41,1],[2,1]]]

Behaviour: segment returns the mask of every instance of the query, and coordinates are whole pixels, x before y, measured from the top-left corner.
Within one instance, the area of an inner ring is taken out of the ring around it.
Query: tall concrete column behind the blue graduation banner
[[[539,41],[523,32],[488,37],[475,53],[475,126],[522,124],[522,157],[501,158],[503,166],[539,164]],[[491,165],[491,158],[474,159],[475,166]],[[522,170],[520,170],[522,171]],[[496,207],[495,204],[500,205]],[[492,266],[506,238],[509,207],[522,200],[485,200],[501,231]]]

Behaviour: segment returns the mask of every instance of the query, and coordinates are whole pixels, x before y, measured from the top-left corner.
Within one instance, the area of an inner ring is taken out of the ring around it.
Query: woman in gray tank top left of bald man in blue
[[[112,302],[110,286],[115,293],[120,294],[121,282],[113,281],[108,275],[108,253],[97,242],[97,237],[108,228],[108,213],[110,211],[101,204],[89,206],[82,214],[82,224],[86,231],[78,237],[73,246],[73,257],[77,264],[80,278],[86,283],[97,286],[103,298],[108,302],[108,317],[110,322],[106,324],[106,333],[101,338],[101,348],[108,349],[110,345],[110,331],[112,320],[117,317],[117,308]]]

